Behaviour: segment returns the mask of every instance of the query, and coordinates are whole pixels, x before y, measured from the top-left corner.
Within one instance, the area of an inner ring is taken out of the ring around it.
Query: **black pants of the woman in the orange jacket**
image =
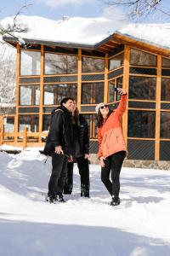
[[[105,184],[106,189],[114,197],[119,197],[120,192],[120,172],[122,168],[122,162],[126,156],[125,151],[117,152],[108,156],[104,162],[105,167],[101,168],[101,181]],[[111,175],[111,180],[110,180]],[[111,183],[112,181],[112,183]]]

